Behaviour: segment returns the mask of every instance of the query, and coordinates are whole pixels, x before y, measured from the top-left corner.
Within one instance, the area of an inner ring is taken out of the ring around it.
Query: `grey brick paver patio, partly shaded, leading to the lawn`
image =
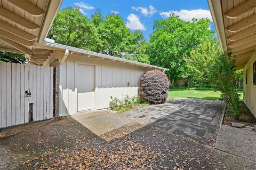
[[[218,129],[222,107],[223,102],[218,100],[177,98],[124,112],[121,116],[209,143]]]

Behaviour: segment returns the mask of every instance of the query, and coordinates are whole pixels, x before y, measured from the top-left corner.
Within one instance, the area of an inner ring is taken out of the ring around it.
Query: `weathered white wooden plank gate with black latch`
[[[53,117],[53,67],[0,63],[0,128]],[[26,96],[25,91],[31,96]]]

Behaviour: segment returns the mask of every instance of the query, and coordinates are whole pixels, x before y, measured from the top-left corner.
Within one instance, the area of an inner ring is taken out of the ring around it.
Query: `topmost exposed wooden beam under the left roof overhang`
[[[31,4],[28,1],[20,1],[20,0],[7,0],[7,1],[20,7],[22,10],[27,11],[34,17],[38,17],[38,16],[41,16],[42,14],[44,14],[43,10],[39,9],[37,6],[35,6],[34,4]]]

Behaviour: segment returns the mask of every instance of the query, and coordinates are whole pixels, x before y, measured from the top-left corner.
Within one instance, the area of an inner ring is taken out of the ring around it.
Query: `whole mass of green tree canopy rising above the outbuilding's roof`
[[[48,37],[60,44],[149,63],[143,34],[132,32],[114,13],[103,18],[97,10],[90,20],[78,8],[68,7],[57,14]]]

